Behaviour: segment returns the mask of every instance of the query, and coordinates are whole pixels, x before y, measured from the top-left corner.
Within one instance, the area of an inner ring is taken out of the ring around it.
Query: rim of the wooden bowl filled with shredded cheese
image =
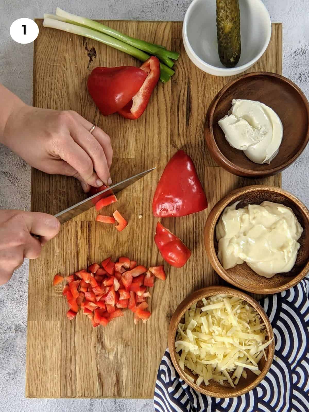
[[[183,379],[188,385],[191,386],[191,388],[195,389],[196,391],[203,393],[204,395],[208,396],[213,396],[214,398],[234,398],[236,396],[241,396],[244,395],[245,393],[251,391],[252,389],[255,388],[262,379],[266,376],[267,372],[269,371],[269,368],[272,365],[272,361],[274,358],[274,353],[275,353],[275,339],[269,344],[269,352],[268,352],[268,357],[267,361],[265,363],[264,368],[261,371],[261,374],[257,376],[251,384],[246,386],[243,389],[237,390],[236,388],[231,387],[230,392],[224,393],[222,396],[222,393],[218,392],[213,392],[208,389],[201,388],[197,386],[194,382],[191,382],[189,379],[187,379],[185,372],[183,369],[180,368],[178,361],[176,359],[176,350],[175,350],[175,337],[176,337],[176,331],[178,327],[178,323],[180,322],[181,318],[183,317],[185,311],[190,308],[192,304],[195,302],[198,302],[201,300],[202,297],[209,297],[209,296],[214,296],[214,295],[232,295],[232,296],[237,296],[241,297],[241,299],[245,300],[248,302],[253,308],[260,314],[262,320],[265,323],[266,329],[267,329],[267,334],[269,339],[272,339],[274,337],[274,331],[272,328],[272,325],[269,321],[269,318],[267,314],[265,313],[264,309],[262,306],[255,300],[253,297],[247,295],[246,293],[242,292],[241,290],[236,290],[232,288],[228,288],[227,286],[208,286],[207,288],[199,289],[196,290],[195,292],[191,293],[189,296],[185,298],[177,307],[176,311],[174,312],[171,322],[169,324],[169,334],[168,334],[168,344],[169,344],[169,353],[171,356],[172,363],[174,367],[176,368],[179,376],[181,379]],[[207,388],[207,387],[206,387]]]

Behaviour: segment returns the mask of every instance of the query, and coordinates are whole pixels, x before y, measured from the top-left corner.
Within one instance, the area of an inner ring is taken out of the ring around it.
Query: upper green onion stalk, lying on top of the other
[[[171,59],[177,60],[179,57],[179,53],[171,52],[169,50],[166,50],[165,48],[163,49],[161,46],[157,46],[157,44],[148,43],[144,40],[139,40],[127,36],[117,30],[105,26],[104,24],[98,23],[97,21],[65,12],[64,10],[59,9],[59,7],[57,7],[56,9],[56,16],[61,17],[61,19],[64,19],[68,23],[78,24],[80,26],[99,31],[126,44],[129,44],[130,46],[143,50],[143,52],[157,56],[164,64],[166,64],[166,66],[173,67],[174,62]]]

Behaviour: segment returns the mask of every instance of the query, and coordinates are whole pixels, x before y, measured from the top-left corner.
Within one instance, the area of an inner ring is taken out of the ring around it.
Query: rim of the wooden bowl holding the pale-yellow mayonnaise
[[[287,192],[284,189],[281,189],[280,187],[275,187],[275,186],[267,186],[267,185],[250,185],[250,186],[245,186],[245,187],[239,187],[236,190],[233,190],[227,196],[225,196],[223,199],[219,200],[215,206],[213,206],[212,210],[210,211],[206,224],[205,224],[205,229],[204,229],[204,239],[207,239],[209,241],[205,241],[205,248],[206,248],[206,253],[209,259],[209,262],[211,263],[211,266],[215,270],[215,272],[225,281],[230,283],[231,285],[235,286],[236,288],[246,290],[247,292],[252,292],[252,293],[260,293],[260,290],[256,290],[254,287],[244,287],[243,283],[239,282],[236,278],[229,276],[227,271],[222,267],[217,253],[215,251],[215,245],[213,243],[213,236],[215,234],[215,226],[223,212],[223,210],[228,206],[234,199],[239,197],[240,195],[250,193],[250,192],[255,192],[255,191],[265,191],[265,192],[274,192],[274,193],[279,193],[282,194],[286,197],[288,197],[293,203],[295,204],[296,207],[300,208],[300,210],[304,213],[306,216],[308,222],[309,222],[309,210],[307,207],[299,200],[297,197],[295,197],[293,194],[290,192]],[[302,271],[297,274],[296,276],[293,277],[293,279],[290,280],[290,282],[286,283],[286,285],[283,286],[277,286],[274,288],[265,288],[263,289],[263,294],[269,295],[273,293],[279,293],[283,292],[284,290],[287,290],[299,283],[306,274],[309,272],[309,260],[307,261],[305,267],[302,269]]]

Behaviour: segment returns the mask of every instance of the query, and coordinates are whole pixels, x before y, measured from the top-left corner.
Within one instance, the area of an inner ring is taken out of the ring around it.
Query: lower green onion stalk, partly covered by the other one
[[[46,16],[46,15],[45,15]],[[58,30],[63,30],[68,33],[77,34],[80,36],[88,37],[92,40],[97,40],[98,42],[107,44],[114,49],[120,50],[130,56],[136,57],[136,59],[140,61],[146,61],[149,59],[150,55],[143,52],[142,50],[137,49],[136,47],[130,46],[120,40],[117,40],[113,37],[110,37],[106,34],[100,33],[96,30],[91,30],[87,27],[75,25],[71,23],[66,23],[65,21],[56,20],[56,16],[54,18],[47,17],[43,21],[44,27],[55,28]],[[160,63],[160,80],[163,83],[169,81],[170,77],[174,74],[174,70],[165,66],[164,64]]]

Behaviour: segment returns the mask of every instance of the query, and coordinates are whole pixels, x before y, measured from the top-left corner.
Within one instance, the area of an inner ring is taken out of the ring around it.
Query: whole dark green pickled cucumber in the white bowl
[[[216,0],[217,38],[221,63],[231,68],[240,58],[240,12],[238,0]]]

